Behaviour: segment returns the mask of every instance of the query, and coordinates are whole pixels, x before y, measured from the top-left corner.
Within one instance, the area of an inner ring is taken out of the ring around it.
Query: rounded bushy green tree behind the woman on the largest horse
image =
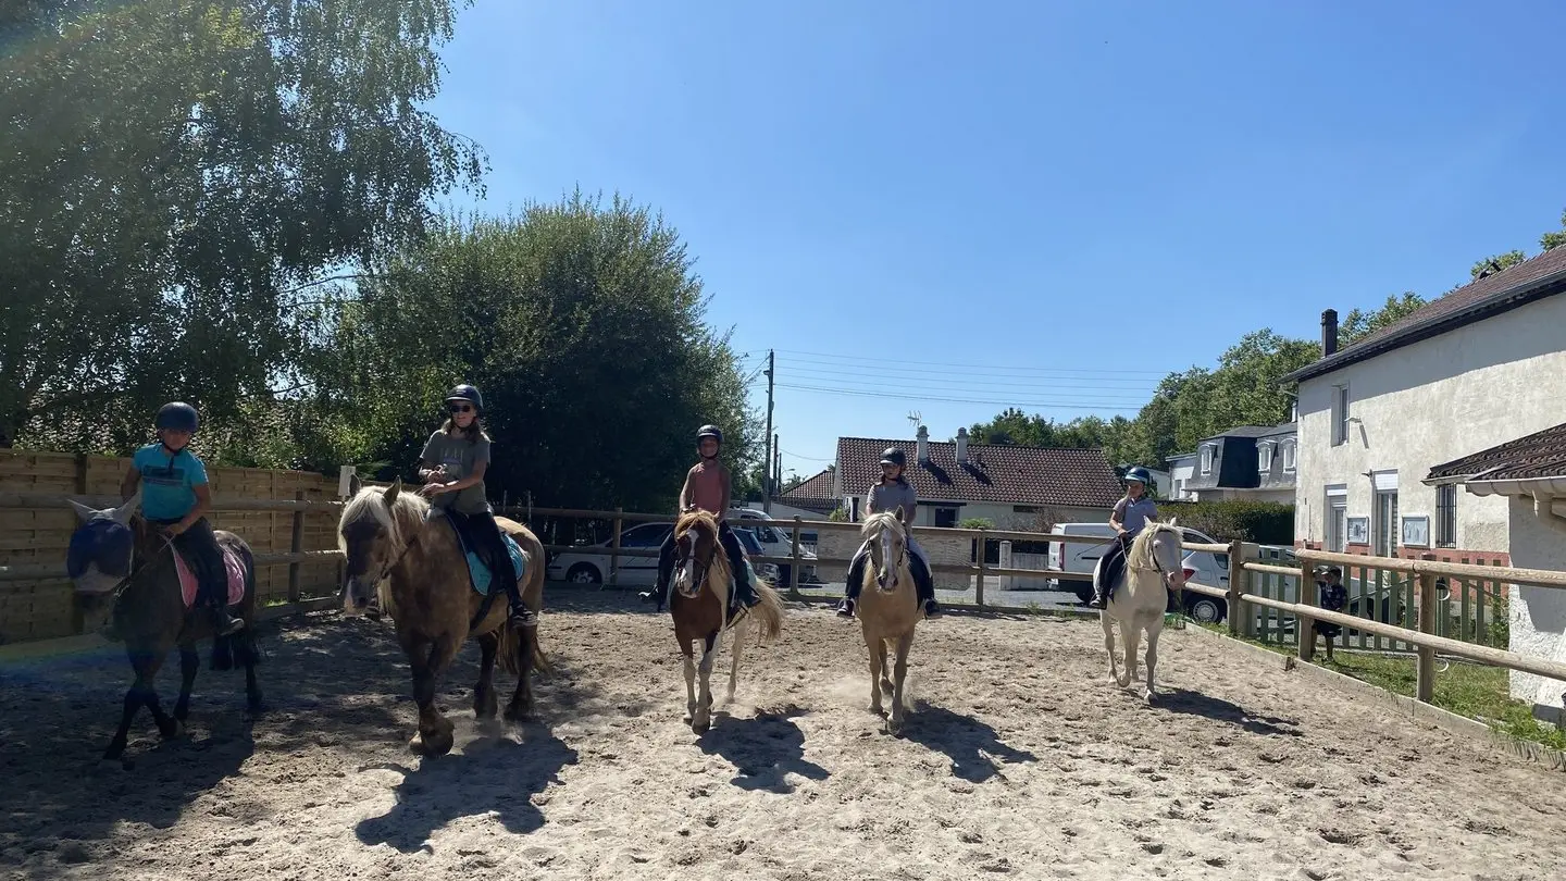
[[[495,495],[672,508],[703,423],[723,428],[733,473],[752,473],[745,378],[703,323],[691,263],[675,229],[619,198],[451,219],[335,310],[301,445],[406,475],[442,390],[467,381],[495,434]]]

